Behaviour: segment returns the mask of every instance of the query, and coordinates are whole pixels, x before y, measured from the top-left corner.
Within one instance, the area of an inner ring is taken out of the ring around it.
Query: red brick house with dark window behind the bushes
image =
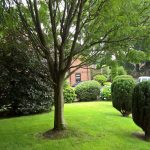
[[[81,63],[79,59],[73,62],[72,66],[77,66]],[[71,68],[70,72],[73,70],[76,70],[76,67]],[[91,72],[89,66],[82,66],[81,68],[77,69],[70,77],[68,78],[68,81],[71,86],[78,82],[91,80]]]

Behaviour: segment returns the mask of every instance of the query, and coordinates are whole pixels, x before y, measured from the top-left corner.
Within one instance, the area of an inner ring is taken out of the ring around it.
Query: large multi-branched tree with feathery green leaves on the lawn
[[[76,66],[80,67],[147,34],[139,15],[144,16],[149,7],[141,0],[13,1],[36,52],[47,62],[54,87],[55,131],[65,128],[63,83],[75,67],[72,61],[80,57],[82,63]]]

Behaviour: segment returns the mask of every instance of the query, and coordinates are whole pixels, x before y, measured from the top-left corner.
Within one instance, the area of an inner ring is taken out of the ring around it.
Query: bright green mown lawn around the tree
[[[68,136],[44,139],[53,112],[0,120],[0,150],[149,150],[150,143],[131,117],[121,117],[110,102],[65,104]]]

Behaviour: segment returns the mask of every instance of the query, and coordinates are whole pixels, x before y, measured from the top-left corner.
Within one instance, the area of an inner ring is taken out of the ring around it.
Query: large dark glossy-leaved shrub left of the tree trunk
[[[5,116],[35,114],[51,109],[53,96],[47,68],[33,51],[28,49],[27,43],[18,45],[10,40],[1,45],[0,111]]]

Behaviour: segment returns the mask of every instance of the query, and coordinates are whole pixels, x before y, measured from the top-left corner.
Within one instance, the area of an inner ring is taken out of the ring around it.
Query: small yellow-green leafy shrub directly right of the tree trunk
[[[65,103],[72,103],[76,98],[75,90],[71,86],[64,88],[64,101]]]

